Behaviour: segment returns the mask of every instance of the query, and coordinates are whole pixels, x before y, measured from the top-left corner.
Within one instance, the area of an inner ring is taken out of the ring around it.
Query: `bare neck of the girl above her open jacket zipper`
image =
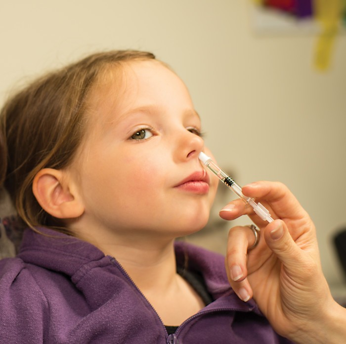
[[[204,307],[200,296],[176,273],[173,238],[128,237],[82,239],[119,261],[165,325],[180,325]]]

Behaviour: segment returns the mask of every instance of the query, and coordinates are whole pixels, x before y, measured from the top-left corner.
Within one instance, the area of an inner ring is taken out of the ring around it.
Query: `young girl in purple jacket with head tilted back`
[[[0,261],[1,343],[288,343],[232,291],[223,257],[174,243],[206,225],[217,179],[167,65],[93,54],[21,90],[0,120],[4,186],[28,227]]]

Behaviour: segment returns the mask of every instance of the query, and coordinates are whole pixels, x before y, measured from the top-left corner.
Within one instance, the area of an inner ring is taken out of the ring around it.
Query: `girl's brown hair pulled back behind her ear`
[[[85,135],[87,100],[98,78],[149,52],[117,50],[92,54],[51,72],[10,98],[0,112],[0,183],[24,223],[60,228],[37,202],[32,183],[43,168],[64,169]]]

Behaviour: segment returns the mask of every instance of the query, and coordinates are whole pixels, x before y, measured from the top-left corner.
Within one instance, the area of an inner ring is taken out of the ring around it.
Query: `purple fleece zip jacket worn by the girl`
[[[229,287],[223,257],[177,242],[213,301],[168,336],[160,317],[115,258],[40,228],[26,230],[16,258],[0,261],[1,344],[284,344],[253,301]]]

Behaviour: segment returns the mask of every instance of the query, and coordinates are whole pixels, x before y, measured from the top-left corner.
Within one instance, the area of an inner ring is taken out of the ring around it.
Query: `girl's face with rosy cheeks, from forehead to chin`
[[[186,86],[158,61],[130,62],[120,80],[95,92],[72,167],[83,223],[126,235],[201,229],[217,179],[199,162],[201,122]]]

